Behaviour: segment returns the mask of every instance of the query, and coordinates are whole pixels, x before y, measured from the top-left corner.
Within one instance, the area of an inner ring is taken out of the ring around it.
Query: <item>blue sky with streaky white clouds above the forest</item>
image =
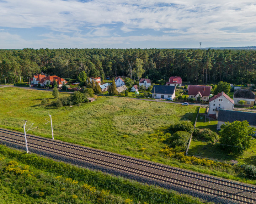
[[[256,46],[255,0],[0,0],[0,49]]]

